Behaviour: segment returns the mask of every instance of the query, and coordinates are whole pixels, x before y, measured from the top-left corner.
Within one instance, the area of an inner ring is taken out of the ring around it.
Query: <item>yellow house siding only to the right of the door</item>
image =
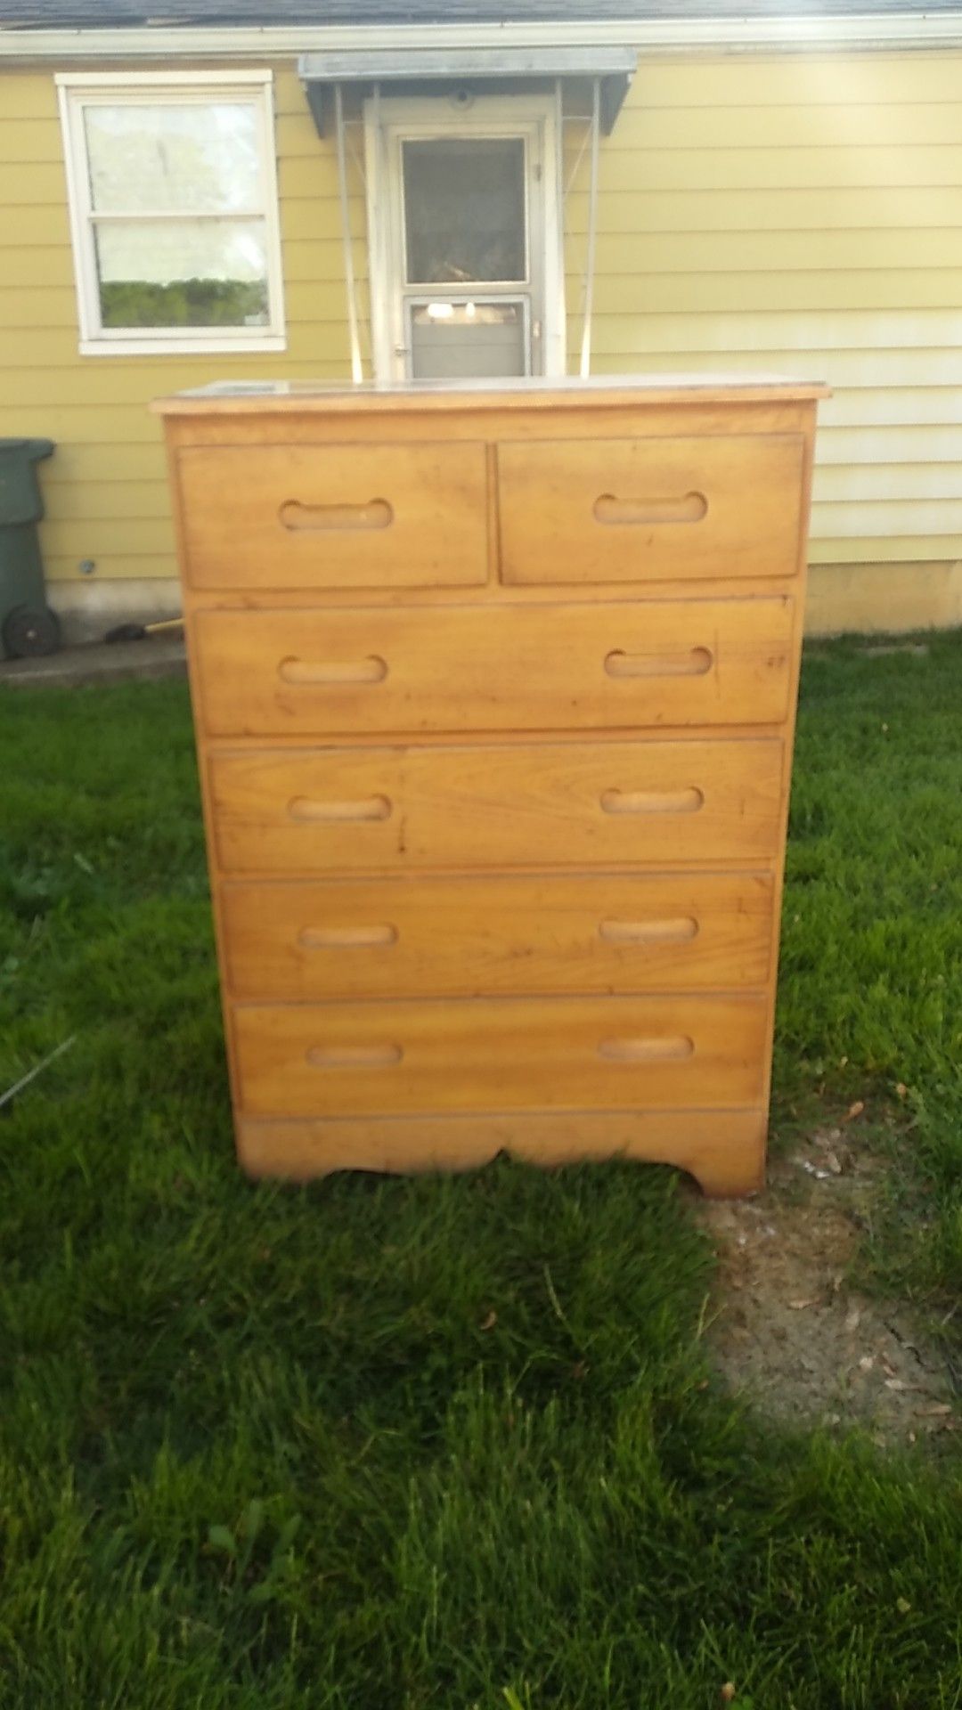
[[[582,157],[572,344],[587,200]],[[597,224],[597,371],[827,380],[811,561],[962,557],[962,55],[649,60]]]

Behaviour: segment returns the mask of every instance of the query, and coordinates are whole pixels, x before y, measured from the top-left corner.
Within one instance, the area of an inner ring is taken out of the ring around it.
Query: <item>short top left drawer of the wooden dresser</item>
[[[195,588],[488,580],[488,465],[478,443],[185,446],[178,479]]]

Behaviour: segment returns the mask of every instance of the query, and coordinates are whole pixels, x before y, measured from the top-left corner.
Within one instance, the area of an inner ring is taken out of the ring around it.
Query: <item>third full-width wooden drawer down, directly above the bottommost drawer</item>
[[[228,983],[260,1002],[763,987],[769,874],[229,881]]]

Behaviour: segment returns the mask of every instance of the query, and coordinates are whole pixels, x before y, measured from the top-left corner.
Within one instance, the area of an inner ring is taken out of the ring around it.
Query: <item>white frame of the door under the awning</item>
[[[560,222],[561,139],[556,103],[551,96],[478,96],[464,111],[452,109],[443,96],[382,97],[365,101],[365,176],[368,188],[368,251],[371,299],[371,354],[375,380],[397,381],[406,351],[402,296],[425,296],[425,287],[404,275],[404,186],[401,150],[404,142],[433,137],[524,137],[537,142],[541,166],[537,219],[526,207],[526,245],[541,238],[543,279],[543,373],[565,374],[565,263]],[[526,198],[531,193],[526,171]],[[532,258],[527,258],[529,280]],[[438,287],[442,294],[442,287]],[[448,289],[443,287],[443,294]],[[450,296],[459,296],[457,289]],[[526,287],[517,280],[478,282],[469,292],[478,301],[505,296],[517,301]],[[531,294],[531,284],[527,286]],[[537,315],[537,310],[534,310]]]

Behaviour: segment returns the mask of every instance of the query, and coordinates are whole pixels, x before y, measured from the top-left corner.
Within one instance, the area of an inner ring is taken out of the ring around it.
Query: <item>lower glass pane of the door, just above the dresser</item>
[[[414,380],[500,380],[527,371],[520,303],[418,303],[411,310]]]

